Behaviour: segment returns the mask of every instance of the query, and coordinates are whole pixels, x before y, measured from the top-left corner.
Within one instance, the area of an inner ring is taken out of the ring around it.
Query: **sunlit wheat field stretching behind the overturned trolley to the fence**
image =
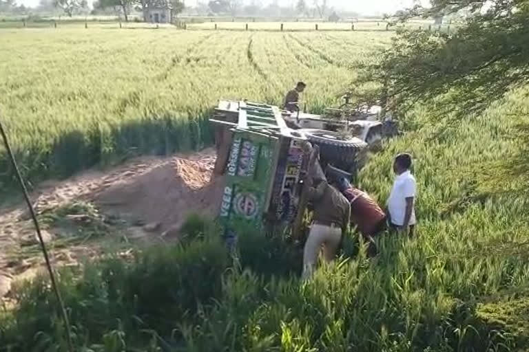
[[[278,104],[304,80],[307,110],[338,104],[355,65],[371,60],[389,38],[352,32],[5,30],[1,118],[26,177],[70,175],[127,155],[211,142],[205,120],[220,98]],[[2,181],[8,182],[2,150],[0,155]]]

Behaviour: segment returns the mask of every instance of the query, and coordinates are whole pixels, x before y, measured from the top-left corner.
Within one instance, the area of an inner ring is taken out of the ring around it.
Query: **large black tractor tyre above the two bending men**
[[[309,142],[320,147],[320,164],[335,166],[356,177],[358,162],[366,150],[366,142],[357,137],[343,137],[340,133],[321,129],[301,129]]]

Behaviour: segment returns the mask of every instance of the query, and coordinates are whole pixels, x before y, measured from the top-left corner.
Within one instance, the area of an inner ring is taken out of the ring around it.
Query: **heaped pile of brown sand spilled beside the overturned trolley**
[[[132,223],[159,223],[162,231],[178,227],[191,213],[214,216],[218,211],[222,181],[210,182],[214,164],[211,151],[166,159],[114,175],[93,200],[103,212]]]

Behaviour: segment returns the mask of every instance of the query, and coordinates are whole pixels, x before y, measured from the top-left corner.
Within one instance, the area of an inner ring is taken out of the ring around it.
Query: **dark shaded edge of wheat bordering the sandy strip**
[[[92,166],[109,166],[137,155],[170,155],[212,144],[208,113],[196,118],[165,113],[123,124],[96,122],[86,130],[65,133],[51,146],[15,148],[19,168],[32,188],[51,177],[65,178]],[[8,131],[9,133],[9,131]],[[14,170],[0,152],[0,188],[13,189]]]

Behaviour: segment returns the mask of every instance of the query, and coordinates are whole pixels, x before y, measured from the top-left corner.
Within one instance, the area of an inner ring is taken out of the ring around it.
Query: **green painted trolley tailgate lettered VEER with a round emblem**
[[[267,212],[278,138],[236,130],[227,165],[220,223],[237,232],[248,224],[260,226]]]

